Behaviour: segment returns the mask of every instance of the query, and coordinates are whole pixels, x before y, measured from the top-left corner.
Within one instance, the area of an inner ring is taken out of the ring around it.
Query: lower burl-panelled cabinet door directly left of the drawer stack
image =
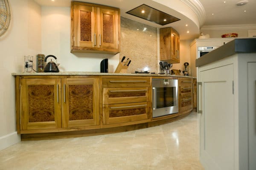
[[[62,79],[62,127],[99,125],[99,79]]]

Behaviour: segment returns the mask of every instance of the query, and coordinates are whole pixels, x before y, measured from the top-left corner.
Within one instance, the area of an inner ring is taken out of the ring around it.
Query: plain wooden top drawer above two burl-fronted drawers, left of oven
[[[102,88],[150,87],[147,78],[102,78]]]

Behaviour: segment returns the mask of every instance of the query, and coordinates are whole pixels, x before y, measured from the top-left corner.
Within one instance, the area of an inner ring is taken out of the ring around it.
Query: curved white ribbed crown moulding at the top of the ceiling
[[[181,0],[185,3],[189,8],[191,8],[195,14],[198,16],[199,26],[200,28],[204,25],[206,14],[204,11],[204,7],[199,2],[199,0]]]

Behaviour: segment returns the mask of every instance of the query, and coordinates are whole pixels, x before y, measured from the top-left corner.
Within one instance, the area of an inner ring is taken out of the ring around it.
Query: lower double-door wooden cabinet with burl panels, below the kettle
[[[20,79],[21,133],[99,125],[99,96],[99,78]]]

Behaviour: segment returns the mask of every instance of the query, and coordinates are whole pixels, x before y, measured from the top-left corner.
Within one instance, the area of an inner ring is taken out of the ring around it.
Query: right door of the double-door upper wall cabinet
[[[118,49],[118,11],[98,8],[98,47]]]

